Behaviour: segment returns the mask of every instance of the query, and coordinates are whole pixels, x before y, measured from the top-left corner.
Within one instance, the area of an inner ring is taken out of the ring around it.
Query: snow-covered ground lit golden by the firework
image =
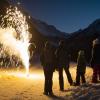
[[[72,65],[74,66],[74,65]],[[71,67],[73,80],[76,76],[76,67]],[[82,86],[70,86],[64,74],[65,91],[59,91],[57,71],[53,76],[53,92],[56,96],[43,95],[44,75],[41,68],[31,69],[30,76],[24,72],[0,71],[0,100],[99,100],[100,84],[91,84],[92,69],[87,68],[87,84]],[[99,99],[97,99],[99,98]]]

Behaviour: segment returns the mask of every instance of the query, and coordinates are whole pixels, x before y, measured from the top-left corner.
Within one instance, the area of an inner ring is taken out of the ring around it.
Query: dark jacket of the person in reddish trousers
[[[100,44],[95,44],[92,49],[91,67],[100,64]]]

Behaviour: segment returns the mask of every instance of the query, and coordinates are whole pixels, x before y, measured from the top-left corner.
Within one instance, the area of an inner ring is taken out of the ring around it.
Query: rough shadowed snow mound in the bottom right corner
[[[100,100],[100,83],[84,84],[80,87],[69,89],[70,96],[66,95],[68,100]]]

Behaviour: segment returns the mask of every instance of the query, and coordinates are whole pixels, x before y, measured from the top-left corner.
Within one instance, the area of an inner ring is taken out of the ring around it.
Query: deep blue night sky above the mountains
[[[17,0],[36,19],[70,33],[100,18],[100,0]]]

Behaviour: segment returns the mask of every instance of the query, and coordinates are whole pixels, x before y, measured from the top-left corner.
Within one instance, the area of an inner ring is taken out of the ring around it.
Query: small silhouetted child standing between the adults
[[[86,58],[83,50],[78,52],[77,58],[77,73],[76,73],[76,85],[80,85],[80,78],[82,79],[82,83],[86,83],[85,80],[85,72],[86,72]]]

